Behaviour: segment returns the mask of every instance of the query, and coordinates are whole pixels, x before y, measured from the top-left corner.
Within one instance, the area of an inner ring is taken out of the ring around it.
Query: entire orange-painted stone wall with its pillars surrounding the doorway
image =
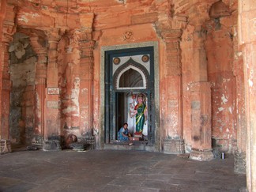
[[[209,10],[216,2],[224,2],[230,15],[210,19]],[[155,41],[160,56],[157,142],[164,146],[162,141],[184,139],[190,152],[210,148],[213,136],[221,150],[237,151],[239,172],[247,150],[248,189],[254,190],[255,171],[250,170],[255,167],[253,0],[3,0],[0,28],[1,138],[9,138],[9,122],[15,142],[30,141],[32,134],[48,140],[65,133],[85,136],[93,130],[100,148],[104,141],[101,47]],[[9,49],[16,30],[33,39],[36,54],[28,48],[27,36],[26,42]]]

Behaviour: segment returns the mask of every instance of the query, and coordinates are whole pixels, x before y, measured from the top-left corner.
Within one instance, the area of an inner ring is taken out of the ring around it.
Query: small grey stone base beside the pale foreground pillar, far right
[[[236,174],[247,174],[247,156],[245,152],[235,151],[234,171]]]

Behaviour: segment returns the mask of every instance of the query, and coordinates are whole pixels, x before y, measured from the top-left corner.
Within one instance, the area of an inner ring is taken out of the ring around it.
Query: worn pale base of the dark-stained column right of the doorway
[[[191,160],[199,160],[199,161],[209,161],[213,160],[213,151],[212,149],[198,150],[192,149],[190,152]]]

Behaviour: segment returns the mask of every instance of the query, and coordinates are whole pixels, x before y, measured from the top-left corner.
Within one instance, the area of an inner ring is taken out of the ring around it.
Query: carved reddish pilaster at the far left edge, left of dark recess
[[[16,31],[14,24],[15,7],[6,4],[5,1],[1,4],[2,24],[1,42],[0,42],[0,153],[11,152],[9,141],[9,95],[12,87],[9,74],[9,43],[13,40],[13,34]],[[8,17],[6,17],[8,15]],[[3,147],[3,151],[2,151]],[[5,150],[7,149],[7,150]]]

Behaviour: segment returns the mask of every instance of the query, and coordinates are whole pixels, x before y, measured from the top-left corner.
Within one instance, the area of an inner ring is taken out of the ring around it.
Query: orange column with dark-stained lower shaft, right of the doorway
[[[193,34],[194,83],[190,85],[192,113],[192,150],[190,152],[190,159],[201,161],[213,160],[211,86],[207,82],[204,40],[205,32],[200,24],[196,24]]]

